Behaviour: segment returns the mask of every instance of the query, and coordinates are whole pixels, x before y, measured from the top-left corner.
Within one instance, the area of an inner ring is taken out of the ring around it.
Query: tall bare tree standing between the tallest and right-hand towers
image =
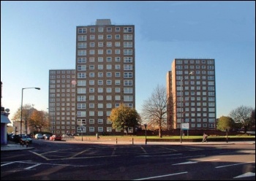
[[[157,85],[146,101],[143,102],[143,119],[148,126],[157,126],[159,137],[162,137],[162,128],[167,128],[167,94],[163,85]]]

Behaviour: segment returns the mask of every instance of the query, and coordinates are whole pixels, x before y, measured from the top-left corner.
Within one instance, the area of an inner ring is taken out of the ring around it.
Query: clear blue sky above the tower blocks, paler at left
[[[174,58],[214,58],[217,118],[255,108],[255,1],[1,1],[1,106],[48,111],[49,69],[75,69],[75,28],[135,25],[136,109]]]

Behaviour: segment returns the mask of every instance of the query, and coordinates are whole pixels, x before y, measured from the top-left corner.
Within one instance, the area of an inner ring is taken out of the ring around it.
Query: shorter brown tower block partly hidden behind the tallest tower
[[[75,69],[49,70],[49,121],[52,134],[75,134]]]

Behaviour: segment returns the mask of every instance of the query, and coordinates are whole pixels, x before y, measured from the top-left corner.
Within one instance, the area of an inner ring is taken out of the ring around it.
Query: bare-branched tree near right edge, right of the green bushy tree
[[[241,123],[241,125],[244,128],[245,134],[251,123],[252,111],[253,111],[252,107],[240,106],[236,109],[233,109],[230,112],[230,117],[233,118],[235,123]]]

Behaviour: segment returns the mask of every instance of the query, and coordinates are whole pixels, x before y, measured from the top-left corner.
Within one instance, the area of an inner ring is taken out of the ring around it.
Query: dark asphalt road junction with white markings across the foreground
[[[253,144],[33,146],[1,153],[1,180],[255,180]]]

